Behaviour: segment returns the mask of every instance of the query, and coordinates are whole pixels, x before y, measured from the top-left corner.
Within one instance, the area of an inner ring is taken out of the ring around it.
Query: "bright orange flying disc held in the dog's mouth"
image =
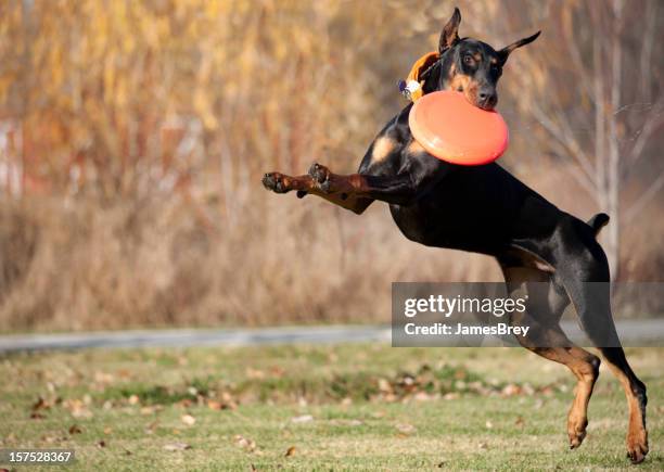
[[[426,152],[452,164],[488,164],[502,155],[509,142],[502,116],[471,105],[460,92],[423,95],[412,105],[408,125]]]

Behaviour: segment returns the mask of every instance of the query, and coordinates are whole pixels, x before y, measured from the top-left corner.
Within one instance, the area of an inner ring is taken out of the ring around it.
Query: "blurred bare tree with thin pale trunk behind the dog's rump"
[[[664,56],[656,53],[664,8],[656,0],[542,5],[545,37],[554,40],[520,58],[527,72],[516,76],[514,97],[541,125],[540,146],[573,160],[571,177],[611,215],[605,251],[617,277],[621,227],[653,199],[662,204],[664,166],[653,161],[664,129]],[[520,17],[520,5],[509,7]],[[633,178],[642,179],[641,190],[623,199]]]

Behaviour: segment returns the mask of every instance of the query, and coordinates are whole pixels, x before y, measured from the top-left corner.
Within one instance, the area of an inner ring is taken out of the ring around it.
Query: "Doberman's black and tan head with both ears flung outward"
[[[475,106],[493,110],[498,103],[496,90],[502,66],[516,48],[533,42],[541,31],[520,39],[496,51],[486,42],[472,38],[459,38],[461,12],[455,13],[440,33],[438,51],[440,59],[432,68],[424,92],[457,90]],[[429,89],[429,90],[427,90]]]

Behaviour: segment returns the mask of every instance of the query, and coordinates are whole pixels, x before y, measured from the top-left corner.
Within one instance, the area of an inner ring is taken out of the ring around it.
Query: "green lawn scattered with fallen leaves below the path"
[[[638,468],[662,470],[664,349],[628,354],[650,398]],[[0,447],[74,448],[67,470],[634,469],[611,373],[572,451],[572,377],[518,348],[48,353],[0,358]]]

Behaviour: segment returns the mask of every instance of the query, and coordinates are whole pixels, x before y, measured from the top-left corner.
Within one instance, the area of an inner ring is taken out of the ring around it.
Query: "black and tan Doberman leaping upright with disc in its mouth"
[[[440,34],[440,56],[426,74],[423,93],[457,90],[475,106],[493,110],[508,58],[539,33],[495,50],[476,39],[459,38],[460,22],[461,14],[455,9]],[[609,265],[596,240],[609,217],[598,214],[584,222],[496,163],[459,166],[432,156],[410,133],[410,107],[401,110],[378,135],[357,174],[337,175],[314,164],[304,176],[266,174],[264,186],[277,193],[294,190],[298,197],[317,195],[358,215],[373,201],[385,202],[406,238],[427,246],[495,257],[508,293],[528,292],[544,282],[547,290],[533,289],[531,292],[539,294],[529,294],[526,307],[534,334],[519,337],[519,342],[565,365],[576,377],[576,397],[567,416],[570,447],[576,448],[586,436],[588,401],[600,359],[573,344],[561,330],[560,318],[572,303],[588,337],[625,390],[629,407],[627,455],[633,462],[641,462],[648,454],[646,385],[629,367],[617,337],[609,299]]]

